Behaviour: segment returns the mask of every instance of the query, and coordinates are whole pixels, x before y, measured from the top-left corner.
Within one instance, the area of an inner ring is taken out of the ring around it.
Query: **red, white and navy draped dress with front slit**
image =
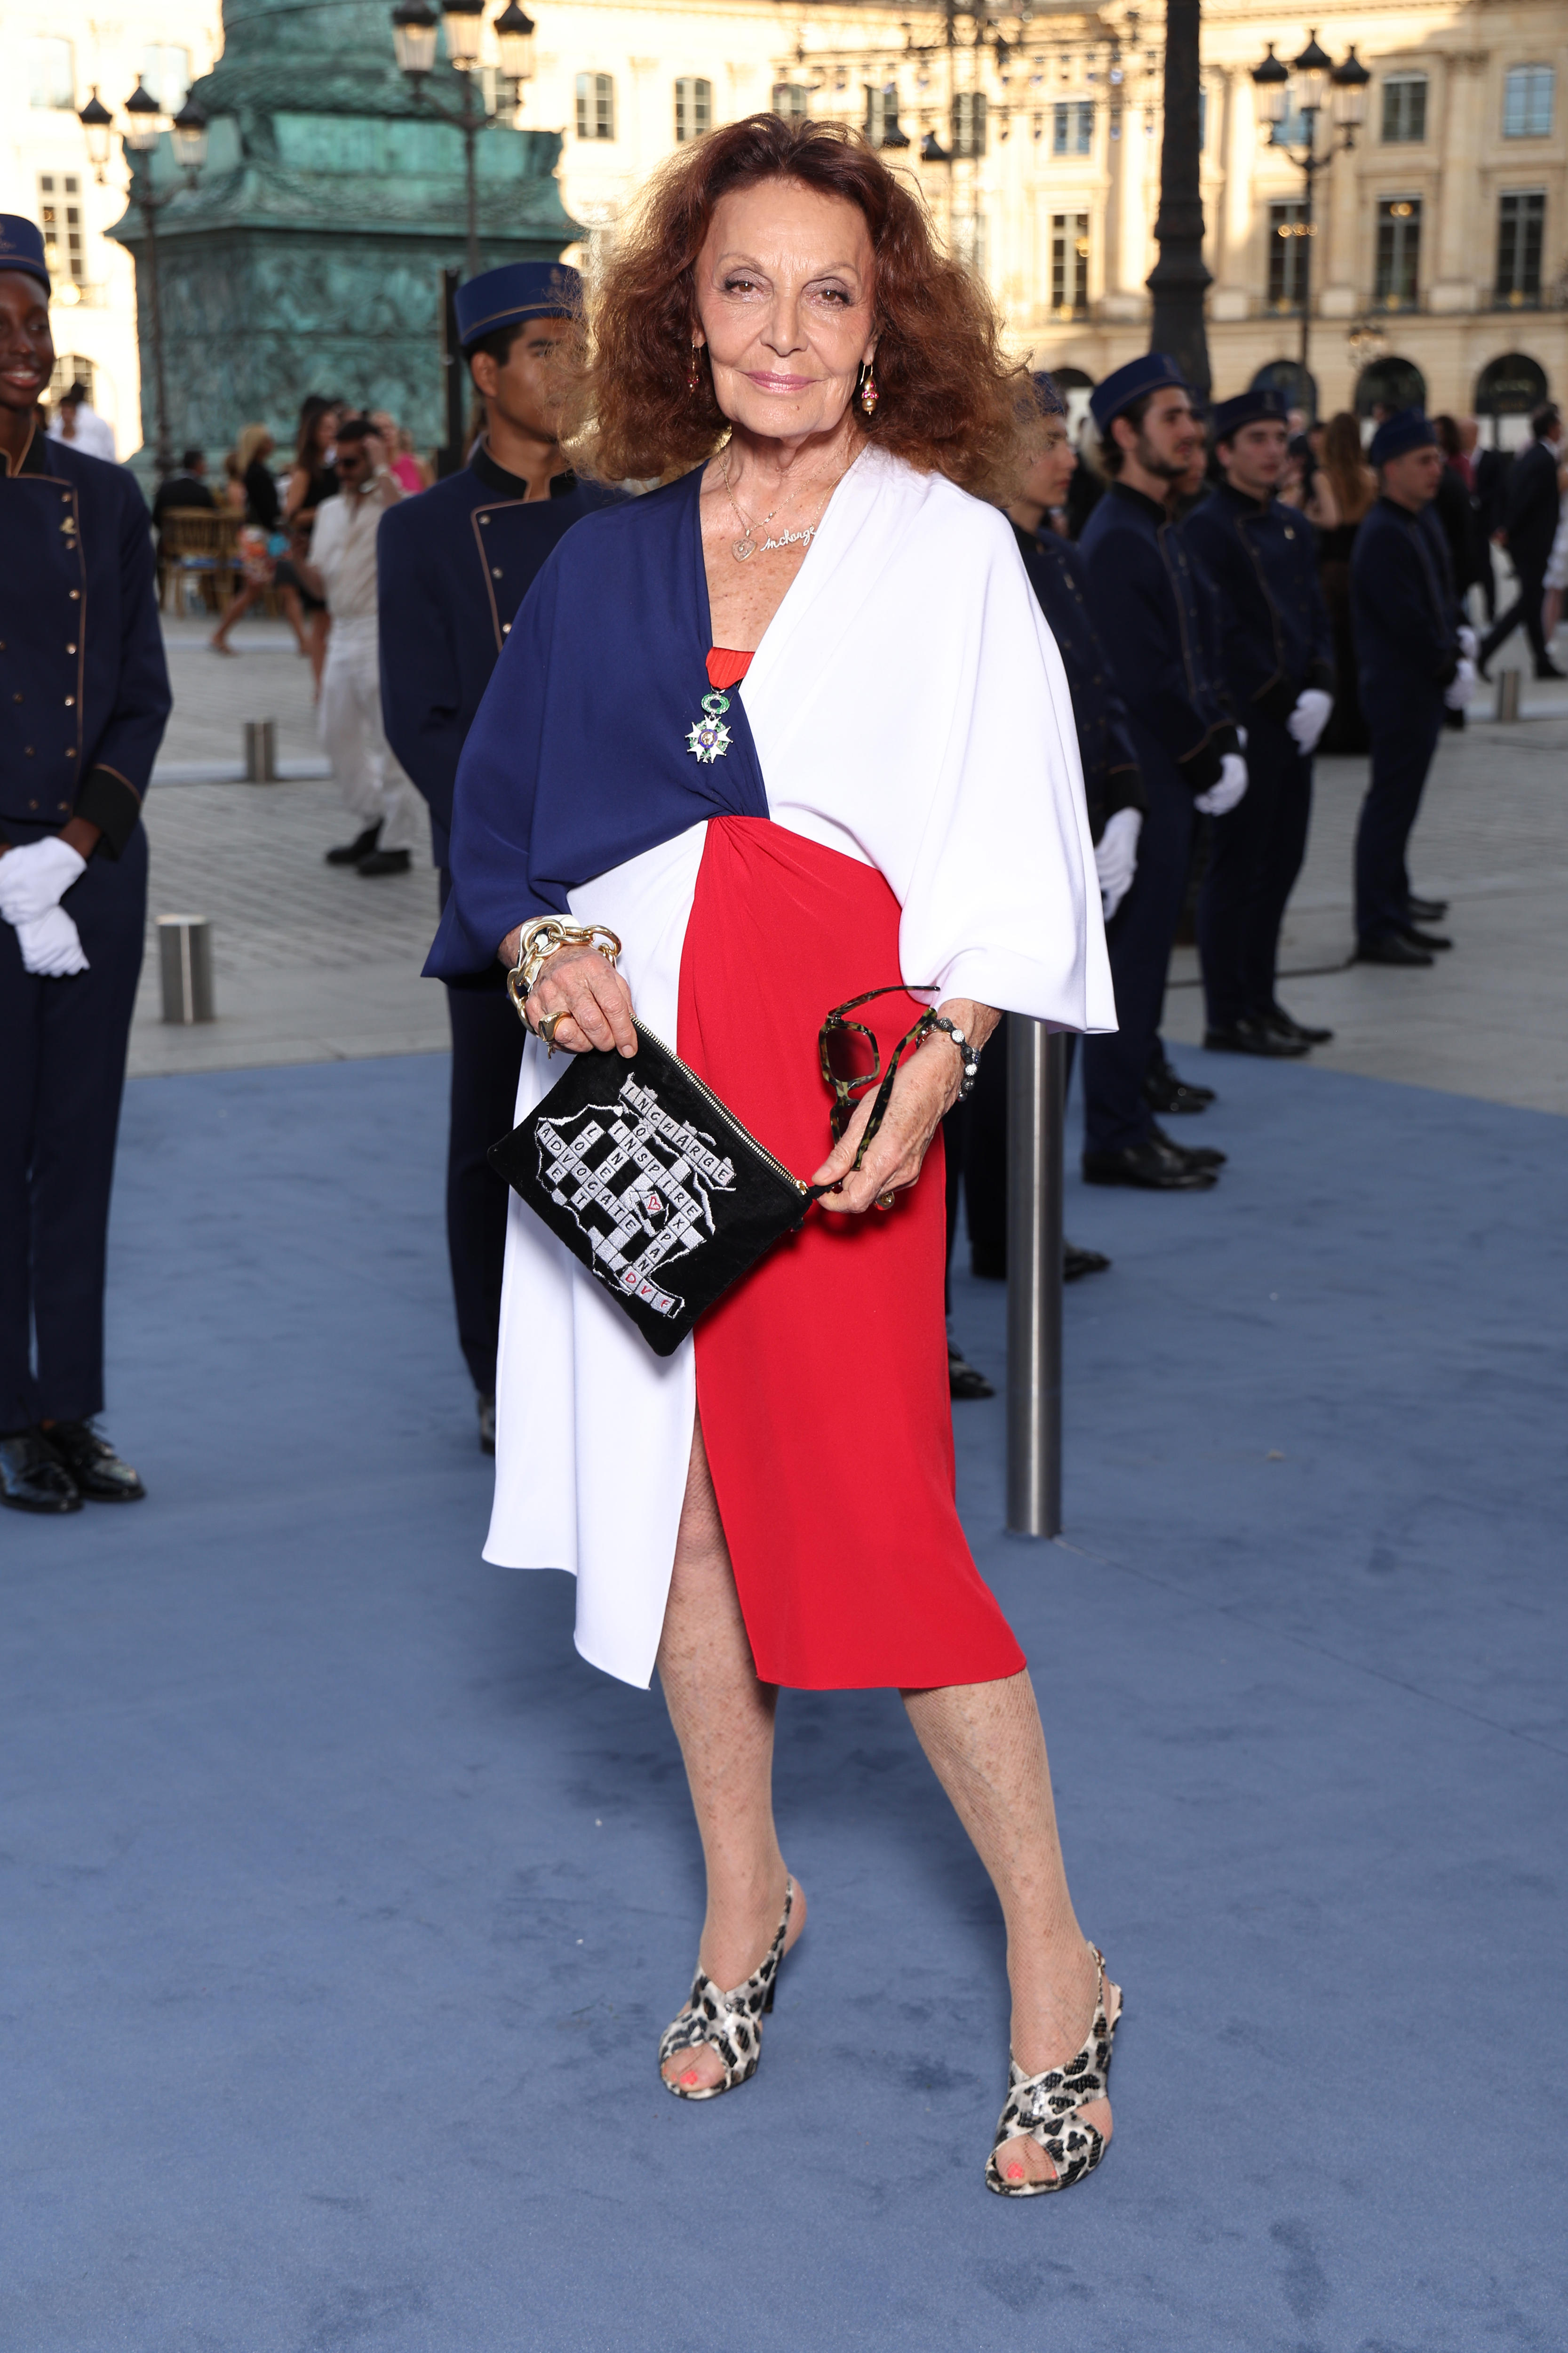
[[[867,1007],[884,1047],[950,995],[1114,1028],[1077,732],[992,508],[865,449],[745,656],[712,647],[698,489],[583,520],[534,584],[458,772],[430,969],[550,908],[609,925],[639,1019],[811,1176],[844,998],[922,988]],[[726,744],[698,758],[712,692]],[[517,1118],[557,1073],[529,1042]],[[512,1200],[484,1558],[576,1572],[578,1649],[625,1682],[654,1673],[698,1412],[764,1680],[1025,1664],[954,1508],[940,1139],[891,1214],[813,1212],[670,1358]]]

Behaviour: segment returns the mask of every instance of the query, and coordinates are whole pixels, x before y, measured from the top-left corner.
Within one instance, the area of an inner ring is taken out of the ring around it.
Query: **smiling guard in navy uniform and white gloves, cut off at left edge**
[[[169,715],[146,501],[45,440],[52,369],[45,242],[0,214],[0,1501],[49,1513],[143,1494],[94,1417]]]

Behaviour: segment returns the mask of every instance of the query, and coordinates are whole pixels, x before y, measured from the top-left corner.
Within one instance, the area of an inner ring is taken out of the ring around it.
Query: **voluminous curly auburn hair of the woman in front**
[[[574,461],[602,480],[672,480],[722,445],[729,419],[710,369],[696,391],[686,384],[696,256],[719,198],[766,179],[839,195],[865,216],[882,393],[875,416],[856,419],[867,440],[978,496],[1011,496],[1034,391],[1001,353],[985,287],[938,252],[919,198],[858,132],[780,115],[710,132],[649,184],[588,306],[592,351],[562,433]]]

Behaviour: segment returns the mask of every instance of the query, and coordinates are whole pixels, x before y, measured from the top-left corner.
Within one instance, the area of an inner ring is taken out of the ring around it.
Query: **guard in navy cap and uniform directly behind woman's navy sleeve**
[[[458,755],[517,607],[571,525],[618,496],[578,482],[555,438],[581,292],[578,273],[555,261],[512,261],[458,287],[458,336],[484,402],[484,435],[463,473],[381,518],[381,711],[393,751],[430,802],[442,906]],[[498,965],[484,981],[449,984],[447,1009],[447,1247],[480,1445],[494,1454],[508,1191],[484,1155],[515,1118],[522,1024]]]

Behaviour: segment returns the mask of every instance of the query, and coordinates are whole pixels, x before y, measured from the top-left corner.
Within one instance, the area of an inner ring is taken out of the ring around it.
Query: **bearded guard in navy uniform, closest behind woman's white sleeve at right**
[[[1107,929],[1121,1026],[1084,1040],[1084,1176],[1190,1193],[1213,1186],[1225,1155],[1173,1144],[1145,1080],[1187,889],[1192,812],[1234,809],[1246,762],[1208,675],[1199,588],[1168,508],[1197,449],[1190,388],[1175,360],[1152,351],[1105,376],[1088,405],[1110,489],[1084,527],[1084,581],[1126,701],[1147,814],[1133,885]]]

